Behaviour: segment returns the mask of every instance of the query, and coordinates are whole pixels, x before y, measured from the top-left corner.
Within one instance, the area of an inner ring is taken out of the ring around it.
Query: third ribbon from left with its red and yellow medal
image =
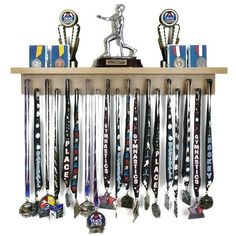
[[[56,198],[49,194],[50,170],[50,81],[45,80],[45,188],[46,195],[39,202],[39,217],[49,216],[50,208],[56,205]]]

